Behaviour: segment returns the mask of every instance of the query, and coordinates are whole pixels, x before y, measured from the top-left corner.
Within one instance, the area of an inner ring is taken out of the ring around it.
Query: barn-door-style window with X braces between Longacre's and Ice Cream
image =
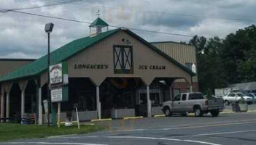
[[[133,73],[132,46],[114,46],[114,72]]]

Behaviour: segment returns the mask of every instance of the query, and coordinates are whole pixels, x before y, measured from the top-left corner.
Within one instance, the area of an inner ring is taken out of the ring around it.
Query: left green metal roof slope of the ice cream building
[[[103,40],[104,38],[112,35],[120,29],[109,30],[104,33],[99,33],[97,36],[79,38],[77,40],[71,41],[61,48],[56,49],[50,53],[50,64],[54,65],[58,62],[68,59],[69,57],[77,54],[77,52],[82,51],[85,48],[97,43],[98,41]],[[37,59],[34,62],[31,62],[28,65],[18,68],[18,70],[12,71],[7,75],[4,75],[0,82],[7,80],[16,80],[19,78],[28,78],[34,75],[39,75],[41,72],[47,70],[47,55]]]

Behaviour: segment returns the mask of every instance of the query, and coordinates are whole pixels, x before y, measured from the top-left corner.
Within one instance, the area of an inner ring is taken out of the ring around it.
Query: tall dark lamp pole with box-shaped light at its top
[[[48,100],[48,115],[47,115],[47,118],[48,118],[48,126],[50,126],[50,106],[51,106],[51,100],[50,100],[50,70],[49,70],[49,67],[50,67],[50,33],[53,31],[53,26],[54,24],[51,22],[51,23],[47,23],[45,24],[45,27],[44,27],[44,31],[45,33],[47,33],[47,37],[48,37],[48,51],[47,51],[47,75],[48,75],[48,80],[47,80],[47,100]],[[53,109],[53,107],[52,107]],[[53,117],[53,115],[52,115]]]

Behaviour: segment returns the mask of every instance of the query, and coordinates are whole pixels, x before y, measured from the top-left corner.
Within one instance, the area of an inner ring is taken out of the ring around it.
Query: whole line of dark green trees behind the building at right
[[[215,88],[231,83],[256,81],[256,27],[251,25],[225,38],[194,36],[200,91],[214,93]]]

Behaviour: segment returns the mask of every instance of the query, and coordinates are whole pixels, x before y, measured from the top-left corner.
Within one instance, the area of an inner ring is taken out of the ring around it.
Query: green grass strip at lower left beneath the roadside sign
[[[21,138],[44,138],[47,136],[61,136],[67,134],[90,133],[104,130],[105,127],[98,125],[77,125],[71,127],[52,128],[47,125],[20,125],[17,123],[0,123],[0,142],[17,140]]]

